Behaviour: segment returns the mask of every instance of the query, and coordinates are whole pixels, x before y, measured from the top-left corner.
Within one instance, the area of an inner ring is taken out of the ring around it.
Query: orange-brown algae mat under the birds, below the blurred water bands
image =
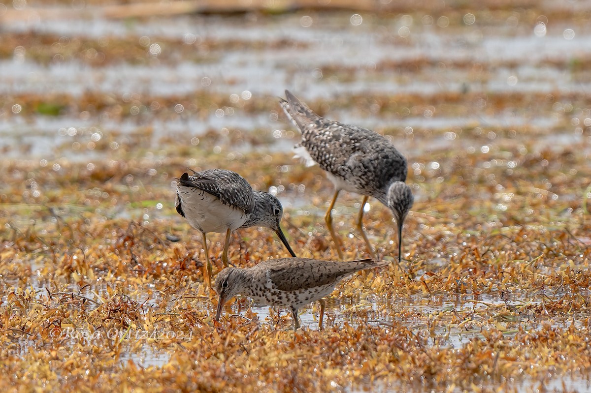
[[[591,238],[576,190],[591,173],[563,172],[586,167],[575,150],[506,149],[411,157],[444,165],[410,173],[421,197],[404,230],[402,270],[392,263],[356,275],[333,293],[324,330],[310,320],[296,332],[286,313],[259,318],[244,299],[213,321],[200,237],[174,211],[171,173],[183,171],[183,159],[164,159],[157,173],[150,154],[92,170],[3,161],[2,379],[17,389],[122,391],[492,391],[527,378],[585,379]],[[511,171],[487,164],[503,153]],[[319,169],[285,154],[207,159],[261,188],[278,178],[292,185],[287,194],[308,185],[296,198],[319,207],[286,211],[288,237],[298,256],[335,258],[322,221],[331,191]],[[249,173],[261,159],[272,169]],[[572,195],[555,198],[547,181]],[[355,202],[348,195],[335,212],[340,234],[351,234],[348,258],[366,255]],[[393,260],[391,214],[372,206],[370,237]],[[222,237],[212,237],[215,271]],[[238,266],[284,254],[265,230],[238,231],[230,247]],[[306,313],[316,318],[316,306]]]

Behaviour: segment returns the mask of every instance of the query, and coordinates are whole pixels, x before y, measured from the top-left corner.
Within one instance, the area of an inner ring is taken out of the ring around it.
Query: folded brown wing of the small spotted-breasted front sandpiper
[[[298,289],[336,284],[344,276],[356,271],[387,264],[376,262],[371,258],[350,262],[295,259],[281,258],[264,262],[267,277],[278,290],[292,292]]]

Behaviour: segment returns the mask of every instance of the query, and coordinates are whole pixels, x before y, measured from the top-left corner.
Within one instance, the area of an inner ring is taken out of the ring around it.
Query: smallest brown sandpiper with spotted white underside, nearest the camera
[[[220,319],[224,304],[233,296],[241,294],[257,303],[287,307],[298,329],[298,309],[319,300],[319,327],[322,329],[325,306],[322,298],[333,292],[343,277],[359,270],[387,264],[372,258],[350,262],[280,258],[249,268],[230,267],[220,271],[216,277],[215,288],[219,294],[216,320]]]

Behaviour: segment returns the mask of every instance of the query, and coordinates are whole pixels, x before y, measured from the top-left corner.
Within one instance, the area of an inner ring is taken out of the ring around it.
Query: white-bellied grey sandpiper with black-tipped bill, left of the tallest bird
[[[175,206],[191,227],[201,231],[206,260],[203,276],[208,287],[211,287],[212,264],[207,253],[207,232],[226,232],[222,252],[225,267],[228,267],[230,232],[238,228],[271,228],[291,256],[296,256],[279,225],[283,215],[281,203],[268,192],[253,191],[236,172],[210,169],[193,171],[191,176],[183,173],[178,179]]]

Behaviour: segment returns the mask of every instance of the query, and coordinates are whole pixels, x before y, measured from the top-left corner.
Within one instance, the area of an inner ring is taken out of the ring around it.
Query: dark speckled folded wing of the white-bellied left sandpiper
[[[245,214],[251,214],[255,208],[251,185],[238,173],[226,169],[209,169],[194,172],[191,176],[183,173],[178,185],[199,188],[216,196],[223,204],[241,209]]]

